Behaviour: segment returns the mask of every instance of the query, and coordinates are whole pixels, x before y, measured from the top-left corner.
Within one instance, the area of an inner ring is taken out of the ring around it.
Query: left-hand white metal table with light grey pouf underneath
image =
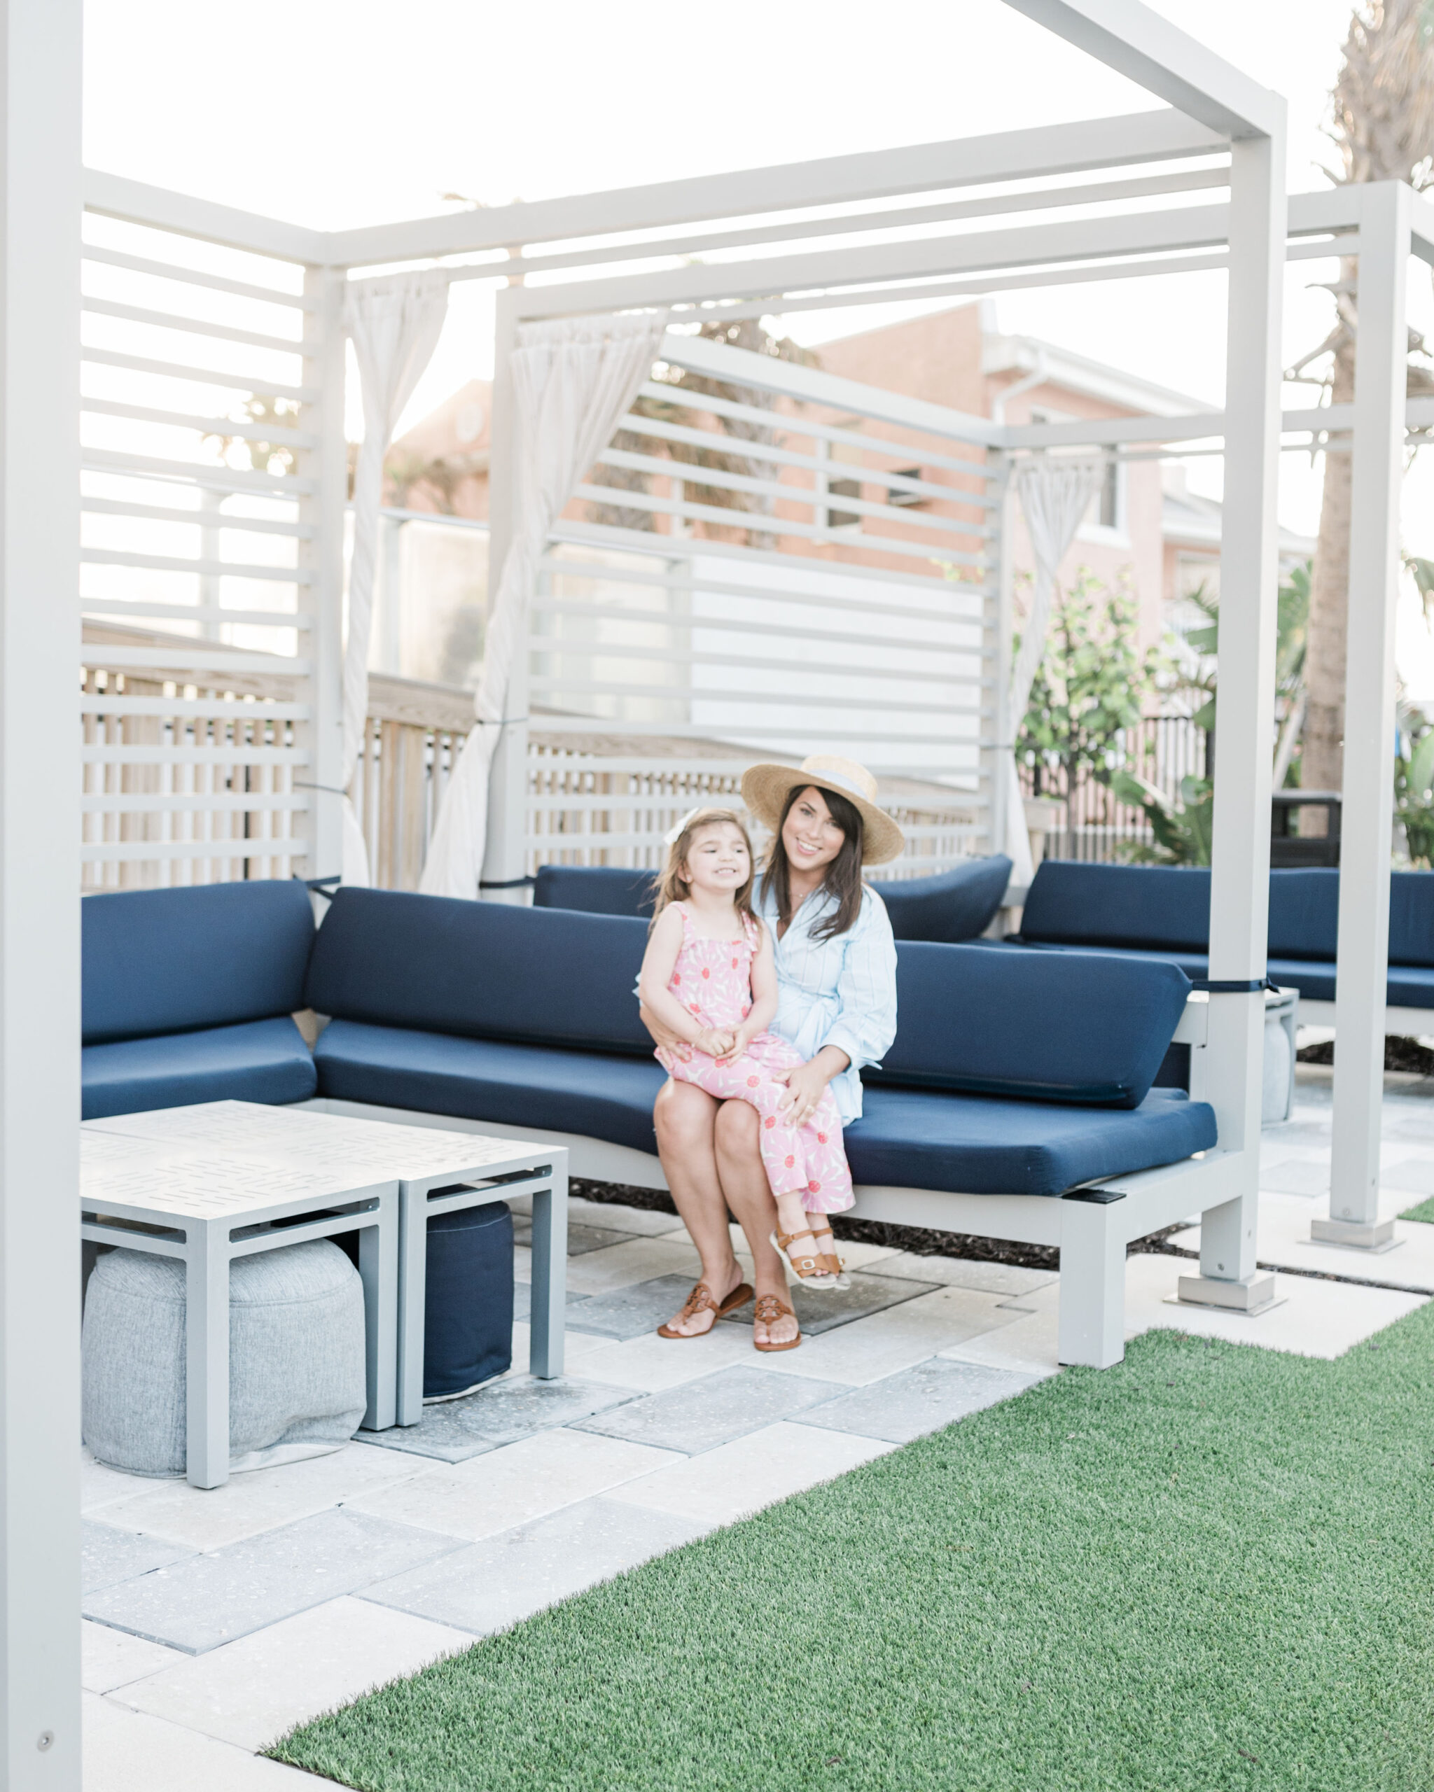
[[[165,1143],[81,1127],[81,1238],[185,1265],[185,1473],[229,1478],[229,1263],[308,1238],[358,1233],[367,1409],[394,1423],[400,1195],[394,1176],[285,1165],[199,1138]]]

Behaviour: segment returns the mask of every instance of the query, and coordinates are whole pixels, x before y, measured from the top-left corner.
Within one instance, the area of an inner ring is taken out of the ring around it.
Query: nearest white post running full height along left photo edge
[[[0,32],[0,1785],[79,1792],[81,9]]]

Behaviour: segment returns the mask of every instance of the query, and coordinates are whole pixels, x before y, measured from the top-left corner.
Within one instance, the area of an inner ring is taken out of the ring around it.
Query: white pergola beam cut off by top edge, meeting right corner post
[[[1285,102],[1138,0],[1006,0],[1224,138],[1283,136]]]

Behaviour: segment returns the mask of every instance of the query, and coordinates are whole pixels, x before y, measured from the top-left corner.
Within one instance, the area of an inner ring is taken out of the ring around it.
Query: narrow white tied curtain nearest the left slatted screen
[[[394,274],[350,285],[344,330],[353,337],[364,392],[364,443],[353,477],[353,559],[348,573],[348,642],[344,643],[344,790],[358,763],[369,708],[369,636],[373,634],[373,570],[378,557],[378,509],[384,498],[384,455],[403,407],[432,360],[448,312],[446,274]],[[344,883],[369,882],[364,831],[344,797]]]

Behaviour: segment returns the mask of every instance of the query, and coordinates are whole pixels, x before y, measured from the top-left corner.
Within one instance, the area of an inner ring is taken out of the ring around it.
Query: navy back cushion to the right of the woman
[[[1190,978],[1104,952],[896,946],[896,1041],[873,1082],[1138,1107]]]

